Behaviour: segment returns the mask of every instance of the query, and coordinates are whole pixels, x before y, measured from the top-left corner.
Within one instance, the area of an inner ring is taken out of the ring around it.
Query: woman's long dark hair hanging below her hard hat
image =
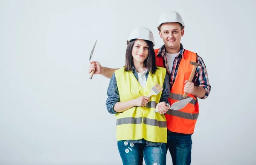
[[[134,47],[134,43],[137,39],[131,40],[126,48],[125,53],[125,71],[132,71],[133,57],[132,57],[132,49]],[[154,53],[153,43],[148,40],[144,40],[148,44],[148,57],[144,60],[144,67],[148,69],[149,73],[155,74],[157,70],[156,66],[156,57]]]

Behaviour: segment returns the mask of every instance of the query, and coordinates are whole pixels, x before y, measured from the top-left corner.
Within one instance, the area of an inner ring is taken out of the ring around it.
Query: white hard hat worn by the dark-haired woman
[[[140,27],[140,28],[134,28],[133,31],[131,31],[129,37],[127,38],[127,45],[129,42],[133,39],[142,39],[142,40],[148,40],[153,43],[154,47],[154,36],[151,30],[145,27]]]

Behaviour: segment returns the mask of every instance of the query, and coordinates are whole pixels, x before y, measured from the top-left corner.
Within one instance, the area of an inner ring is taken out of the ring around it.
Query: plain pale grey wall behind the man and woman
[[[0,165],[120,165],[109,79],[89,80],[89,55],[122,67],[126,38],[178,11],[181,42],[204,60],[192,165],[255,165],[255,0],[0,0]],[[167,163],[171,157],[167,154]]]

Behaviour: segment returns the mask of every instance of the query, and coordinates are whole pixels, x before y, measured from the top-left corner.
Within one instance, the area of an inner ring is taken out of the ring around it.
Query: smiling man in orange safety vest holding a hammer
[[[198,54],[184,49],[180,43],[184,35],[184,26],[182,17],[176,11],[163,13],[157,28],[164,45],[155,49],[156,65],[165,67],[169,74],[171,86],[169,102],[173,104],[183,100],[184,92],[188,94],[188,97],[193,98],[183,109],[179,111],[169,109],[165,114],[168,128],[167,146],[173,165],[190,165],[191,135],[194,133],[199,115],[197,98],[207,98],[211,90],[204,61]],[[191,61],[202,66],[197,67],[192,82],[188,82],[193,68]],[[92,70],[95,70],[95,74],[111,78],[116,69],[102,67],[98,62],[93,61],[89,66],[89,73]]]

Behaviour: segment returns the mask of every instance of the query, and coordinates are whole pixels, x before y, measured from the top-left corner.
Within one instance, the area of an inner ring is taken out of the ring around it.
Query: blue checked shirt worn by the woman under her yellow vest
[[[134,74],[134,76],[136,77],[136,79],[138,80],[138,73],[135,70],[135,68],[133,67],[133,71],[132,73]],[[145,74],[146,76],[146,80],[148,80],[148,74],[149,72],[147,71],[147,73]],[[163,82],[163,91],[162,91],[162,95],[160,97],[160,102],[168,102],[168,97],[169,97],[169,93],[170,93],[170,86],[169,86],[169,77],[168,74],[166,73],[166,77],[164,79]],[[108,91],[107,91],[107,95],[108,95],[108,99],[106,101],[106,105],[107,105],[107,110],[110,114],[117,114],[117,112],[114,110],[114,106],[117,102],[120,102],[120,96],[119,96],[119,91],[117,88],[117,83],[116,83],[116,76],[115,73],[112,74],[109,86],[108,86]],[[159,142],[149,142],[146,141],[145,139],[139,139],[139,140],[126,140],[127,142],[133,142],[133,143],[145,143],[146,145],[160,145],[162,143]]]

